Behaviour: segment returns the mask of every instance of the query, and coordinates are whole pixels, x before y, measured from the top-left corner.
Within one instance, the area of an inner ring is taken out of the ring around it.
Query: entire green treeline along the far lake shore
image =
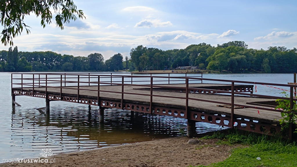
[[[163,70],[180,66],[198,66],[201,69],[228,70],[232,73],[297,72],[297,49],[268,47],[268,50],[248,49],[244,41],[232,41],[217,45],[200,43],[185,49],[162,51],[139,45],[130,51],[131,58],[121,53],[104,61],[100,53],[87,57],[61,55],[51,51],[18,52],[18,48],[0,51],[1,71],[114,71],[114,70]]]

